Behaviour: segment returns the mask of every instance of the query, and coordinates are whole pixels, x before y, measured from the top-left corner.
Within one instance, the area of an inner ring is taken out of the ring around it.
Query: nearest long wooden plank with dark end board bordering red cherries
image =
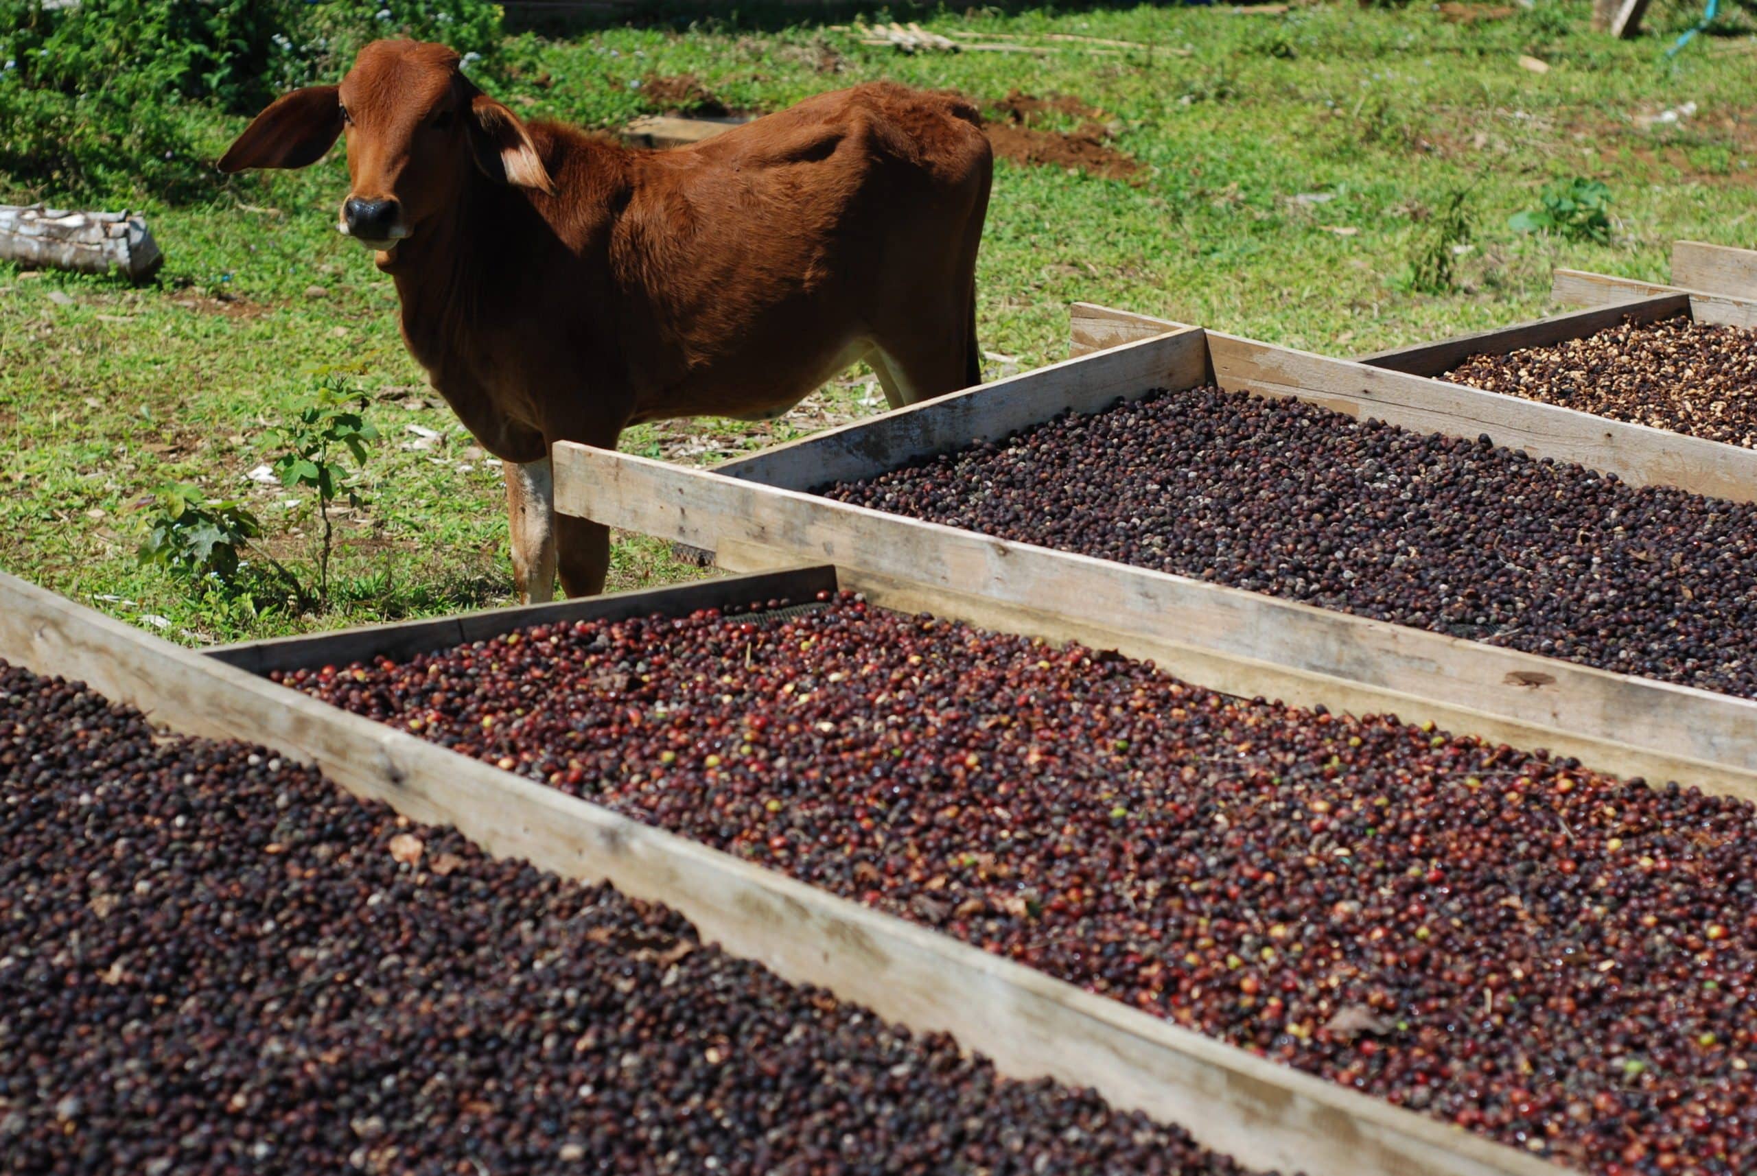
[[[0,656],[83,679],[176,730],[265,744],[316,764],[360,797],[413,820],[455,825],[487,851],[520,857],[624,893],[664,902],[705,941],[794,983],[917,1032],[945,1030],[1003,1074],[1054,1076],[1114,1106],[1186,1125],[1254,1167],[1309,1176],[1562,1176],[1529,1153],[1471,1136],[1312,1074],[1181,1029],[1163,1018],[951,936],[838,899],[717,850],[618,816],[555,788],[348,714],[242,669],[408,655],[550,620],[678,613],[712,604],[859,588],[875,604],[917,607],[905,586],[805,567],[682,588],[413,621],[202,655],[0,574]],[[949,602],[942,613],[954,614]],[[989,607],[989,616],[1001,616]],[[1033,618],[1010,614],[1019,632]]]

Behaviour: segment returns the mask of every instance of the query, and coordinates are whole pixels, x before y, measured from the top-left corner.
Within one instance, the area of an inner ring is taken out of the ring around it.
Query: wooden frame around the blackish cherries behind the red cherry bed
[[[815,493],[973,439],[1003,437],[1061,411],[1091,412],[1149,388],[1218,381],[1297,395],[1418,428],[1504,437],[1506,421],[1606,421],[1513,397],[1437,384],[1451,397],[1399,397],[1420,377],[1346,360],[1186,330],[1124,344],[982,388],[940,397],[719,470],[555,446],[555,504],[566,514],[715,551],[752,570],[798,560],[915,583],[970,611],[1063,618],[1063,632],[1158,660],[1191,681],[1242,697],[1393,711],[1516,746],[1546,746],[1618,776],[1678,779],[1757,799],[1757,700],[1613,674],[1573,662],[1372,621],[1279,597],[1109,560],[1010,542],[886,514]],[[1314,391],[1328,388],[1330,391]],[[1353,390],[1353,391],[1349,391]],[[1469,393],[1469,395],[1465,395]],[[1465,411],[1486,405],[1493,421]],[[1450,409],[1450,411],[1448,411]],[[1527,412],[1539,409],[1539,412]],[[1399,419],[1400,418],[1400,419]],[[1630,427],[1638,428],[1638,427]],[[1639,430],[1643,460],[1671,434]],[[1527,428],[1529,448],[1569,456],[1557,434]],[[1590,435],[1578,442],[1590,442]],[[1706,444],[1706,442],[1704,442]],[[1725,449],[1727,446],[1717,446]],[[1560,451],[1558,451],[1560,449]],[[1613,451],[1622,456],[1627,449]],[[1757,460],[1750,451],[1736,451]],[[1625,469],[1629,462],[1622,462]],[[1629,476],[1625,470],[1618,470]],[[1664,472],[1664,470],[1662,470]],[[1072,618],[1072,620],[1070,620]],[[982,620],[980,616],[973,620]]]

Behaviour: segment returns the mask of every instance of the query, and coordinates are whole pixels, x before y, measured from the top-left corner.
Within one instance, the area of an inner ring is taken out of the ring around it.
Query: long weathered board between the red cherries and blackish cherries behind
[[[1188,672],[1237,695],[1325,700],[1309,676],[1379,692],[1404,718],[1548,746],[1620,776],[1757,799],[1757,702],[1370,621],[1254,592],[1052,551],[817,495],[557,444],[555,506],[720,553],[831,560],[1010,609],[1093,618],[1126,641],[1204,660]],[[726,556],[722,556],[724,562]],[[759,565],[768,565],[764,560]],[[1153,655],[1156,656],[1156,655]],[[1186,663],[1167,660],[1167,665]]]

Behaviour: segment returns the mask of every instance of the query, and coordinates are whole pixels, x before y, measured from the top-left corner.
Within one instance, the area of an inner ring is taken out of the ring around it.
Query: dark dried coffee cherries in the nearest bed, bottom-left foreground
[[[1242,1176],[664,907],[4,663],[0,1171]]]

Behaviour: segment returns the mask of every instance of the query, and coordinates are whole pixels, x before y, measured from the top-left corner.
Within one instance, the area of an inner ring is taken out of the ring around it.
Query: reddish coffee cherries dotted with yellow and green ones
[[[281,678],[1558,1162],[1757,1171],[1746,800],[849,597]]]

